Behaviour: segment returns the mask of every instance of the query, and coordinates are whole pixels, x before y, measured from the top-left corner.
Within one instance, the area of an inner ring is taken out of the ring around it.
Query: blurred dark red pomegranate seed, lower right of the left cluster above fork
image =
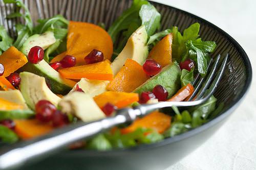
[[[52,125],[54,127],[62,127],[69,124],[69,118],[66,114],[56,110],[52,115]]]

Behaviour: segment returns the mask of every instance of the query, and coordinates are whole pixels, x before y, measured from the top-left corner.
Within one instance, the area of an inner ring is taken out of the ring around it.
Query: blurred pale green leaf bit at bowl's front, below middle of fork
[[[112,146],[108,139],[103,134],[99,134],[96,137],[88,141],[87,148],[98,151],[111,150]]]

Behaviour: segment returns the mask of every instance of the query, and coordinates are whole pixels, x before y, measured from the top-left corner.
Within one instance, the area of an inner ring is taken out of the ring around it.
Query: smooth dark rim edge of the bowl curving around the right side
[[[151,1],[152,2],[152,1]],[[246,82],[245,85],[241,91],[241,93],[239,94],[239,96],[237,97],[236,100],[234,100],[231,105],[228,108],[225,108],[224,110],[222,110],[222,112],[220,113],[219,116],[215,117],[214,119],[210,120],[209,122],[207,122],[206,124],[203,124],[200,127],[197,127],[195,129],[192,129],[190,131],[184,132],[180,135],[176,135],[174,137],[169,137],[166,138],[164,140],[161,140],[159,142],[156,143],[151,143],[151,144],[139,144],[136,147],[131,147],[131,148],[124,148],[124,149],[112,149],[109,151],[97,151],[97,150],[74,150],[74,151],[68,151],[66,152],[65,155],[67,155],[68,153],[72,153],[72,154],[77,154],[77,153],[82,153],[82,154],[90,154],[90,155],[98,155],[98,154],[118,154],[118,153],[122,153],[122,152],[133,152],[133,151],[143,151],[143,150],[148,150],[148,149],[152,149],[152,148],[158,148],[158,147],[163,147],[164,145],[170,144],[170,143],[174,143],[174,142],[178,142],[180,140],[184,140],[186,138],[189,138],[191,136],[194,136],[196,134],[199,134],[202,131],[205,131],[206,129],[216,125],[217,123],[221,122],[225,117],[229,116],[234,109],[236,109],[239,104],[242,102],[242,100],[245,97],[245,94],[248,92],[251,81],[252,81],[252,67],[251,67],[251,63],[250,60],[246,54],[246,52],[244,51],[243,47],[234,39],[232,38],[228,33],[226,33],[224,30],[222,30],[221,28],[217,27],[216,25],[214,25],[214,23],[211,23],[195,14],[192,14],[190,12],[181,10],[179,8],[170,6],[170,5],[166,5],[166,4],[162,4],[159,2],[152,2],[153,4],[157,4],[157,5],[164,5],[166,7],[170,7],[174,10],[180,11],[182,13],[185,13],[191,17],[196,18],[197,20],[203,21],[205,22],[208,26],[210,26],[211,28],[214,28],[215,30],[218,30],[218,32],[220,34],[222,34],[223,36],[225,36],[227,39],[230,40],[230,42],[237,48],[238,52],[241,54],[242,59],[244,60],[244,64],[245,64],[245,68],[246,68],[246,74],[247,74],[247,78],[246,78]]]

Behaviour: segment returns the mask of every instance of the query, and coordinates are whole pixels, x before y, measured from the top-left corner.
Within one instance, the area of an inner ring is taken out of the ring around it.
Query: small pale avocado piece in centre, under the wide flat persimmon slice
[[[106,91],[106,85],[109,84],[110,81],[102,81],[102,80],[88,80],[86,78],[82,78],[73,89],[69,92],[72,93],[75,91],[76,86],[83,90],[84,93],[89,94],[92,98],[98,94],[101,94]]]

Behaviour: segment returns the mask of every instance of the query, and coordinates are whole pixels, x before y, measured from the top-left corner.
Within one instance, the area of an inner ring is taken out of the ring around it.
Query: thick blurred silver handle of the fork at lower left
[[[56,133],[51,133],[28,142],[22,142],[15,149],[0,156],[0,169],[19,167],[31,159],[52,154],[72,142],[90,138],[114,126],[131,121],[129,114],[125,114],[124,111],[127,110],[123,110],[122,114],[114,117],[108,117],[89,124],[78,123],[77,125],[61,128],[57,130],[57,135]]]

